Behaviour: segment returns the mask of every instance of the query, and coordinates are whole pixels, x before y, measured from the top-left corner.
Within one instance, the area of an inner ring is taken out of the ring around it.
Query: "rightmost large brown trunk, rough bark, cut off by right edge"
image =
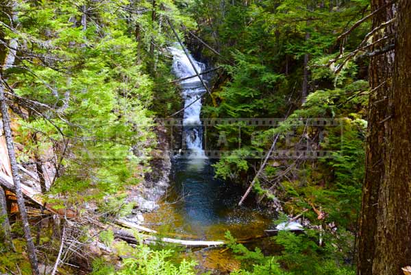
[[[397,10],[395,71],[388,94],[384,180],[379,187],[374,218],[375,257],[372,274],[397,275],[411,265],[411,2],[401,0]]]

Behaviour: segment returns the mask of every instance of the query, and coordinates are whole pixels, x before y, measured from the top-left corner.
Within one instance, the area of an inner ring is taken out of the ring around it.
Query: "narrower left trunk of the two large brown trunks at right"
[[[381,10],[389,0],[371,1],[371,11]],[[383,23],[394,17],[392,5],[373,16],[372,29],[378,28]],[[394,29],[388,27],[384,32],[377,32],[373,42],[384,36],[392,36]],[[373,47],[376,50],[376,47]],[[386,80],[393,75],[393,52],[372,57],[369,67],[369,82],[373,93],[369,97],[369,129],[366,147],[365,180],[362,189],[362,211],[360,218],[360,231],[358,236],[358,274],[371,274],[373,255],[375,253],[374,236],[377,228],[379,183],[384,180],[384,132],[386,123],[383,121],[388,115],[386,99],[390,84]]]

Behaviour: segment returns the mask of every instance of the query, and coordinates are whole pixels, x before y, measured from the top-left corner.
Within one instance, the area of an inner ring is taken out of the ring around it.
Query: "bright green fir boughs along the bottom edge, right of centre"
[[[229,248],[238,254],[237,257],[242,263],[241,270],[231,273],[234,275],[355,274],[352,266],[346,265],[343,258],[335,256],[336,244],[332,242],[336,239],[327,239],[332,245],[320,247],[314,241],[319,237],[318,232],[313,230],[301,235],[279,232],[279,235],[273,238],[284,248],[279,256],[264,256],[258,248],[250,251],[242,244],[236,243],[229,232],[226,233],[226,237],[229,240]]]

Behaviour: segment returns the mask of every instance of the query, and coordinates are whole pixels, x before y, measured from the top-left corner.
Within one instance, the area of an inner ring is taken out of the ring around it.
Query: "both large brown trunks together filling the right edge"
[[[389,1],[372,1],[373,10]],[[395,14],[395,11],[397,14]],[[411,259],[411,3],[399,1],[373,19],[379,27],[397,16],[374,40],[395,35],[373,51],[370,80],[369,145],[360,220],[358,274],[401,274]],[[379,37],[377,37],[379,36]],[[386,52],[388,51],[388,52]],[[379,55],[379,53],[384,53]],[[395,57],[395,58],[394,58]]]

